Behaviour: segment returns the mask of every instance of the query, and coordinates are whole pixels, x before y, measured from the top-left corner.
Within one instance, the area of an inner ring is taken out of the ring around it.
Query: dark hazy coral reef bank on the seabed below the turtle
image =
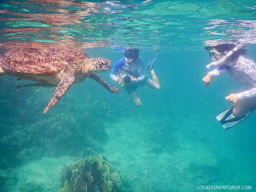
[[[27,125],[13,120],[12,126],[2,128],[0,169],[43,156],[85,156],[101,152],[106,135],[103,124],[89,118],[83,121],[82,116],[74,117],[75,120],[66,119],[68,116],[73,114],[58,114]]]

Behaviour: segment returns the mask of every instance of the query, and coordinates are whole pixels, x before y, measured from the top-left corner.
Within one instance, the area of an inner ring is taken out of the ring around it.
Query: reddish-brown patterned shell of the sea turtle
[[[0,56],[0,66],[9,71],[44,74],[62,70],[69,64],[89,59],[80,49],[13,49]]]

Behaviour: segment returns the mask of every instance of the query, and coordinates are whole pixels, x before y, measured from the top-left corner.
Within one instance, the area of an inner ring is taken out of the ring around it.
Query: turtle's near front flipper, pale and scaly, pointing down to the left
[[[47,103],[44,108],[44,113],[55,105],[59,99],[69,90],[73,82],[75,81],[75,73],[73,71],[67,71],[63,74],[58,86],[53,92],[51,100]]]

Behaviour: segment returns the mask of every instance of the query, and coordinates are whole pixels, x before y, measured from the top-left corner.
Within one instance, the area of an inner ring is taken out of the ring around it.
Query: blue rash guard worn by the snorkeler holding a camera
[[[127,64],[125,57],[118,60],[114,66],[114,69],[110,73],[110,77],[115,81],[117,81],[117,75],[119,73],[119,69],[125,69],[133,73],[134,75],[136,75],[136,76],[133,76],[130,73],[124,70],[121,70],[121,76],[129,75],[132,77],[136,77],[137,82],[143,81],[147,77],[146,69],[141,57],[138,57],[135,61],[131,62],[130,64]]]

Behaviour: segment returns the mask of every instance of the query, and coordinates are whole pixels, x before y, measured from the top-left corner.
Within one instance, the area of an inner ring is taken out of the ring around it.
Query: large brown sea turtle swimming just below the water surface
[[[51,100],[43,113],[46,113],[65,94],[73,83],[83,82],[89,77],[112,93],[120,90],[109,85],[93,72],[110,69],[110,60],[89,58],[80,49],[13,49],[0,56],[0,76],[7,74],[40,83],[26,86],[57,85]]]

